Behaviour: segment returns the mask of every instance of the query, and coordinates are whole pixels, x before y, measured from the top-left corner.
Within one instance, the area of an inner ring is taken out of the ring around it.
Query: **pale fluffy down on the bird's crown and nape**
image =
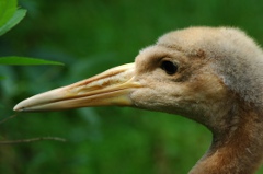
[[[187,56],[204,54],[232,92],[263,107],[263,51],[242,31],[190,27],[165,34],[157,45],[175,48]]]

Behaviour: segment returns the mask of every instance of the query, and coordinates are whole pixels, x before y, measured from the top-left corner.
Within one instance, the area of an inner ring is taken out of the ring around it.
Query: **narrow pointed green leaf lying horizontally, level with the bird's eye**
[[[58,61],[49,61],[36,58],[28,57],[1,57],[0,65],[9,65],[9,66],[41,66],[41,65],[52,65],[52,66],[64,66],[62,62]]]

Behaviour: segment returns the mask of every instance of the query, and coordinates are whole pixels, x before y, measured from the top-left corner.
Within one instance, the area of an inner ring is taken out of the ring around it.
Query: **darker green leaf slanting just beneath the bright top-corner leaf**
[[[19,9],[14,12],[13,16],[0,27],[0,36],[10,31],[13,26],[15,26],[26,14],[26,10]]]

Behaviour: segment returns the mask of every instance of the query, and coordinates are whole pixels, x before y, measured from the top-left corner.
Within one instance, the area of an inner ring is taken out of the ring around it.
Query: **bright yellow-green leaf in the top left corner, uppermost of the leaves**
[[[0,27],[13,16],[16,4],[16,0],[0,0]]]

